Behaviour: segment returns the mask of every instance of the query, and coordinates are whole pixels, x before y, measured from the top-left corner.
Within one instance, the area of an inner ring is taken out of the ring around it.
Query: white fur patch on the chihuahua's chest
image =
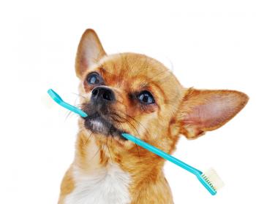
[[[127,204],[129,197],[129,173],[116,164],[85,174],[73,170],[75,189],[67,195],[65,204]]]

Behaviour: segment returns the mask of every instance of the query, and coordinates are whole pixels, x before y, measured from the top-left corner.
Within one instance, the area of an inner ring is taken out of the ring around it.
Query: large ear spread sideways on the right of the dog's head
[[[221,127],[244,108],[248,99],[235,90],[187,90],[177,115],[181,134],[193,139]]]

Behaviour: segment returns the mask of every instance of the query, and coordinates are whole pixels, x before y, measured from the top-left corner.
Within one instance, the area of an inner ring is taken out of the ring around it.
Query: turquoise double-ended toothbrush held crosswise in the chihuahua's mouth
[[[48,90],[48,94],[50,95],[51,98],[53,98],[54,101],[56,101],[56,103],[59,103],[59,105],[63,106],[64,108],[69,109],[70,111],[73,111],[76,114],[79,114],[81,117],[88,116],[81,109],[78,109],[75,106],[72,106],[69,103],[64,102],[62,98],[52,89]],[[197,177],[200,183],[203,184],[203,186],[208,190],[208,192],[211,193],[211,195],[216,195],[217,189],[221,188],[224,185],[221,178],[219,178],[219,176],[217,175],[217,172],[212,168],[206,171],[205,173],[203,173],[200,170],[193,168],[190,165],[187,165],[185,162],[178,160],[176,157],[173,157],[170,154],[163,152],[157,147],[152,146],[151,144],[148,144],[145,141],[140,140],[140,138],[136,138],[135,136],[132,136],[128,133],[122,133],[121,136],[123,136],[124,138],[127,138],[127,140],[132,141],[135,144],[138,144],[139,146],[142,146],[148,151],[153,152],[154,154],[157,154],[159,157],[162,157],[165,160],[173,162],[179,167],[184,168],[185,170],[188,170],[190,173],[194,174]]]

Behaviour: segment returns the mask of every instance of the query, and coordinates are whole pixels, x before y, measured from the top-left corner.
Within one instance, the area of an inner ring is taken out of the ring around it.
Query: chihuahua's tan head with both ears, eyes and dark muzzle
[[[75,68],[82,109],[89,114],[80,127],[121,146],[135,145],[121,137],[130,133],[170,152],[180,134],[190,139],[215,130],[248,101],[235,90],[184,88],[146,55],[107,55],[91,29],[80,39]]]

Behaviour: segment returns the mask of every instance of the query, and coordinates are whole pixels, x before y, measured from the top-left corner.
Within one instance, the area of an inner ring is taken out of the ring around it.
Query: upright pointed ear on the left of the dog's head
[[[89,66],[97,63],[106,53],[99,41],[99,37],[92,29],[87,29],[80,39],[75,60],[75,71],[78,78],[83,76]]]

